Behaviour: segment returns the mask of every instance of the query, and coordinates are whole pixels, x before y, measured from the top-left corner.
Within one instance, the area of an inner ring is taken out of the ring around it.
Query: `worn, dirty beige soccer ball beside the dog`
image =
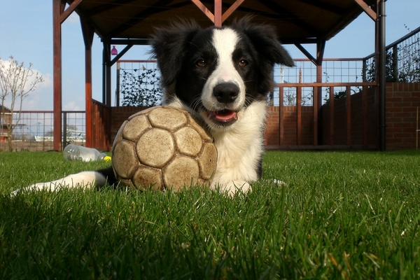
[[[144,190],[209,186],[216,170],[212,137],[187,111],[156,106],[123,123],[112,148],[116,178]]]

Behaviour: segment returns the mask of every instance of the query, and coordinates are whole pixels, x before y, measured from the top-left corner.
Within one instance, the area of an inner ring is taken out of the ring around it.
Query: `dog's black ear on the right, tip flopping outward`
[[[245,34],[257,55],[258,92],[265,94],[274,88],[274,64],[295,66],[292,57],[281,46],[276,31],[271,25],[255,25],[251,17],[241,18],[232,22],[232,27]]]

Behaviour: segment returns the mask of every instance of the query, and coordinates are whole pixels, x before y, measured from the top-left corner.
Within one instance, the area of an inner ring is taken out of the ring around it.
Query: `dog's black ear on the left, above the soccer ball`
[[[174,22],[168,28],[156,28],[151,38],[151,53],[158,59],[161,85],[167,90],[174,86],[181,71],[186,50],[201,27],[193,21]]]

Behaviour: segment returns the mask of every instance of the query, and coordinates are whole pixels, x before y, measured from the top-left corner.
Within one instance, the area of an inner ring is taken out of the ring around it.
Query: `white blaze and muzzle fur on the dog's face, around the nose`
[[[233,104],[232,110],[240,110],[245,102],[245,85],[233,64],[232,54],[237,47],[239,37],[232,29],[214,29],[213,45],[217,52],[217,66],[207,79],[202,91],[202,103],[209,111],[223,110],[224,104],[218,104],[213,96],[213,89],[220,83],[235,83],[239,87],[239,96]]]

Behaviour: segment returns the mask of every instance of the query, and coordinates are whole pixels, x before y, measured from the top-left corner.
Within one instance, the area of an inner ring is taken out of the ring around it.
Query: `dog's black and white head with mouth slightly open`
[[[249,18],[223,28],[177,23],[157,29],[151,45],[165,102],[179,98],[214,130],[230,127],[251,102],[267,99],[274,64],[294,65],[274,29]]]

